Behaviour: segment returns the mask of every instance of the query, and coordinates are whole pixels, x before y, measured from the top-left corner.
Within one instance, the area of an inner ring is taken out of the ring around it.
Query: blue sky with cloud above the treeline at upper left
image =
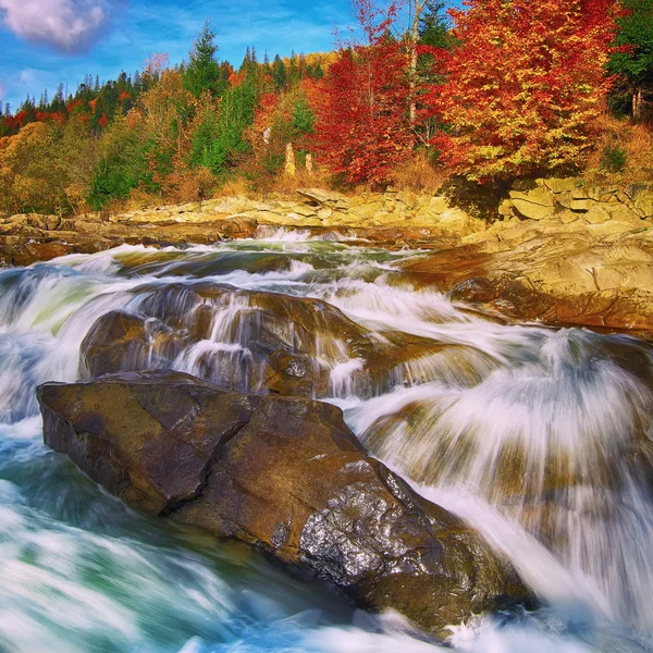
[[[0,99],[15,110],[60,82],[133,73],[155,52],[178,63],[205,19],[235,64],[251,45],[260,58],[329,50],[334,27],[352,22],[348,0],[0,0]]]

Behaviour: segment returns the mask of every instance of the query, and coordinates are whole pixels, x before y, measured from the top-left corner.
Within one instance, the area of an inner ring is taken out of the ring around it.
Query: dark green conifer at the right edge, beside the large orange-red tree
[[[642,114],[644,96],[653,94],[653,0],[621,0],[615,52],[607,69],[627,85],[632,116]]]

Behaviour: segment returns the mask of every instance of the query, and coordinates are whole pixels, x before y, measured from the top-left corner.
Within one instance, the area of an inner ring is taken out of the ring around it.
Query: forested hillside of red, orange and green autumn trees
[[[224,184],[480,184],[653,176],[653,0],[355,0],[333,52],[188,59],[87,78],[0,114],[0,211],[75,213],[210,197]],[[306,170],[310,155],[309,170]]]

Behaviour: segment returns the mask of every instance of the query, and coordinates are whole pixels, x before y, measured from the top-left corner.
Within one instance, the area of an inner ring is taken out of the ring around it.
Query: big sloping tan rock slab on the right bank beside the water
[[[416,284],[509,318],[653,338],[653,238],[627,207],[595,206],[611,219],[601,214],[604,221],[588,224],[576,214],[569,223],[575,214],[564,212],[560,222],[567,223],[557,227],[542,221],[493,227],[495,237],[465,238],[403,267]],[[628,212],[631,222],[615,220],[615,210]]]

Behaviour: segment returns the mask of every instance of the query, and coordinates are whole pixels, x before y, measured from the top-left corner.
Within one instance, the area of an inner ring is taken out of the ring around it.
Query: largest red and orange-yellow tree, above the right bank
[[[422,98],[445,128],[453,172],[513,177],[578,163],[592,145],[616,29],[615,0],[465,0],[458,46],[436,51],[442,84]]]

